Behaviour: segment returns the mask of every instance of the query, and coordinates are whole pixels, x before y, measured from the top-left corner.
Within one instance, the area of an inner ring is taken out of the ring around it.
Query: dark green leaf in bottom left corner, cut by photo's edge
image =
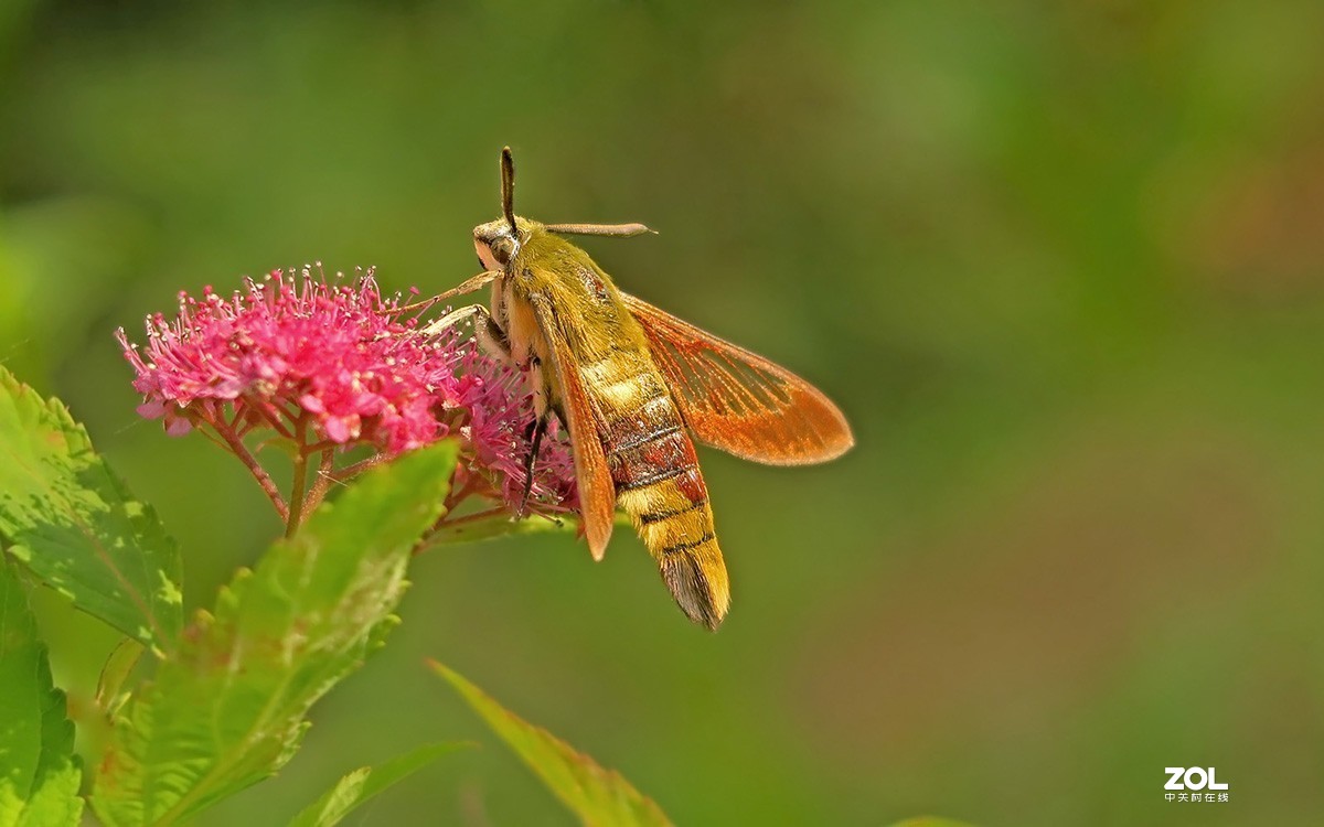
[[[77,824],[74,725],[17,572],[0,557],[0,827]]]

